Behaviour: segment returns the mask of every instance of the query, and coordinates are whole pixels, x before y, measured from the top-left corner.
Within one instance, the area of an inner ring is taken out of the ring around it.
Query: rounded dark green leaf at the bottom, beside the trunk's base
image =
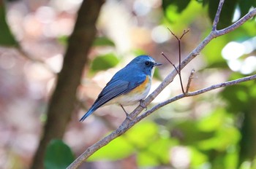
[[[45,152],[45,169],[67,168],[75,160],[71,149],[61,140],[53,140],[48,144]]]

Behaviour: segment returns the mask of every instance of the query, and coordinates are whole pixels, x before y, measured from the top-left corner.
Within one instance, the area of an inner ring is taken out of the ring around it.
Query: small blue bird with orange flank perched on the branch
[[[101,106],[116,103],[124,110],[123,106],[134,105],[142,101],[149,93],[154,68],[161,65],[162,63],[157,63],[148,55],[134,58],[110,79],[80,122]],[[124,112],[129,118],[129,114],[125,110]]]

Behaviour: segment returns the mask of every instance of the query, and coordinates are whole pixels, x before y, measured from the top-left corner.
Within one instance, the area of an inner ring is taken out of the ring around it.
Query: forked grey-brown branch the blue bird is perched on
[[[255,8],[255,9],[252,9],[250,12],[248,12],[246,15],[244,15],[244,17],[242,17],[240,20],[236,21],[236,23],[233,23],[232,25],[228,26],[227,28],[223,28],[222,30],[217,30],[217,23],[219,21],[219,15],[220,15],[220,12],[221,12],[221,9],[222,9],[222,4],[224,3],[224,1],[225,0],[220,0],[219,1],[219,7],[217,9],[217,15],[215,16],[215,19],[214,19],[212,31],[210,32],[210,34],[208,34],[208,36],[206,36],[205,39],[203,39],[203,41],[200,44],[198,44],[198,46],[195,48],[195,50],[192,50],[192,52],[190,52],[189,55],[187,55],[187,58],[185,58],[179,64],[179,66],[178,66],[179,70],[181,70],[182,68],[187,66],[187,64],[192,59],[194,59],[198,55],[198,53],[201,50],[203,50],[203,48],[206,47],[206,45],[209,42],[211,42],[212,39],[214,39],[218,36],[222,36],[224,34],[227,34],[230,31],[235,30],[236,28],[238,28],[242,24],[244,24],[247,20],[251,19],[252,17],[254,17],[256,15],[256,8]],[[173,82],[173,79],[177,74],[178,74],[177,70],[171,71],[170,74],[168,74],[165,77],[164,81],[159,85],[159,87],[157,87],[157,89],[154,90],[154,92],[151,93],[151,95],[148,95],[148,97],[145,99],[143,104],[145,106],[148,106],[148,104],[151,103],[151,101],[153,101],[154,98],[156,98],[157,95],[159,95],[159,93],[161,93],[162,90],[165,87],[167,87],[168,84],[170,84],[170,82]],[[194,74],[193,71],[192,71],[192,74]],[[192,76],[193,75],[189,76],[188,84],[191,83]],[[256,74],[252,75],[252,76],[246,76],[246,77],[241,78],[241,79],[236,79],[236,80],[233,80],[233,81],[230,81],[230,82],[214,84],[211,87],[206,87],[204,89],[197,90],[195,92],[182,93],[181,95],[177,95],[176,97],[171,98],[170,100],[159,103],[157,106],[154,106],[152,109],[144,112],[139,117],[138,117],[138,114],[140,114],[140,112],[143,111],[143,107],[138,106],[134,111],[132,111],[131,114],[129,114],[129,117],[131,117],[133,119],[132,121],[129,120],[129,119],[125,119],[124,122],[122,122],[122,124],[116,130],[114,130],[112,133],[105,136],[105,138],[102,138],[102,140],[98,141],[97,143],[95,143],[94,145],[92,145],[88,149],[86,149],[86,151],[83,152],[83,154],[81,154],[80,157],[78,157],[74,162],[72,162],[72,164],[70,164],[69,167],[67,167],[67,168],[68,169],[78,168],[83,162],[85,162],[85,160],[88,157],[91,156],[91,154],[94,154],[94,152],[96,152],[98,149],[102,148],[102,146],[107,145],[110,141],[113,141],[113,139],[115,139],[118,136],[122,135],[123,133],[127,132],[127,130],[129,130],[130,127],[137,124],[137,122],[140,122],[141,119],[144,119],[145,117],[147,117],[148,114],[151,114],[152,112],[156,111],[157,109],[161,108],[162,106],[165,106],[168,103],[171,103],[173,101],[177,101],[178,99],[181,99],[181,98],[184,98],[184,97],[189,97],[189,96],[193,96],[193,95],[199,95],[201,93],[206,93],[210,90],[214,90],[214,89],[217,89],[219,87],[227,87],[227,86],[231,86],[231,85],[238,84],[238,83],[241,83],[241,82],[246,82],[246,81],[253,80],[253,79],[256,79]]]

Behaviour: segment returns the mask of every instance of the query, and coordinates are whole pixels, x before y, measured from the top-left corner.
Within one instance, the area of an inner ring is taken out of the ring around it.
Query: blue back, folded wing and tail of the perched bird
[[[104,105],[108,101],[112,100],[113,98],[118,97],[124,93],[128,93],[135,87],[138,87],[141,83],[143,83],[146,79],[146,76],[142,76],[137,74],[136,76],[127,76],[127,74],[115,74],[113,78],[108,82],[108,84],[104,87],[97,100],[91,106],[89,111],[83,115],[80,121],[89,117],[91,113],[97,110],[100,106]]]

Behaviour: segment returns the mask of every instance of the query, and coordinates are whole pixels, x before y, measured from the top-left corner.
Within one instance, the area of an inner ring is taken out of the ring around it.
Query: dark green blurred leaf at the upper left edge
[[[7,24],[3,1],[0,1],[0,45],[18,46],[18,42],[16,42]]]

